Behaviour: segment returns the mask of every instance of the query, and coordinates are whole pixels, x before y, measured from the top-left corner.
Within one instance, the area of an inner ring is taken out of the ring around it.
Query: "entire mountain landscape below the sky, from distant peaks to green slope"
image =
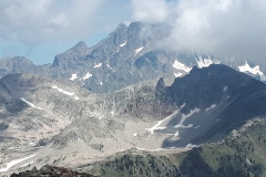
[[[160,48],[171,30],[1,59],[0,174],[266,176],[266,65]]]

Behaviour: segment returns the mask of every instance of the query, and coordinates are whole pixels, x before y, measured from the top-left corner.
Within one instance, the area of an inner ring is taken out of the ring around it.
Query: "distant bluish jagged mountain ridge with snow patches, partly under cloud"
[[[193,65],[224,63],[236,70],[266,80],[263,67],[245,66],[245,62],[212,59],[207,55],[162,49],[172,28],[164,23],[132,22],[120,24],[106,39],[88,48],[81,41],[54,56],[52,64],[34,65],[25,58],[0,60],[0,77],[9,73],[37,73],[71,80],[95,93],[117,91],[127,85],[158,77],[180,77]],[[242,66],[242,67],[241,67]]]

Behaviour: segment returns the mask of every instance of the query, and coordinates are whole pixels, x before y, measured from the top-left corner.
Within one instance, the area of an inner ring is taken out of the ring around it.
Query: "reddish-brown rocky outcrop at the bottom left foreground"
[[[41,169],[37,169],[33,167],[31,170],[22,171],[19,174],[12,174],[11,177],[95,177],[90,174],[85,173],[78,173],[78,171],[72,171],[69,168],[63,168],[63,167],[53,167],[45,165]]]

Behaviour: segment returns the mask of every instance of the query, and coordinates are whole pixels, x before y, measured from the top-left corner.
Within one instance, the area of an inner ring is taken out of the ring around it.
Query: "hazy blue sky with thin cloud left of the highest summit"
[[[127,0],[2,0],[0,59],[21,55],[51,63],[80,41],[96,44],[130,18]]]

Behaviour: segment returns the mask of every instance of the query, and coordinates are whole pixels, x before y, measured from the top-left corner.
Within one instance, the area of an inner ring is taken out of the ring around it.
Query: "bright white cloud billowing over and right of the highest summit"
[[[265,59],[266,1],[132,0],[132,9],[133,19],[173,27],[165,48],[258,62]]]

